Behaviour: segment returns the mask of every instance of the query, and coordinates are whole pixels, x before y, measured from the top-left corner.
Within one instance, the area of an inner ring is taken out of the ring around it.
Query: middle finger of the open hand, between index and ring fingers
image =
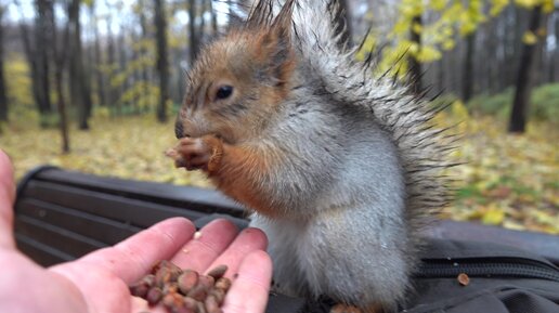
[[[182,269],[202,273],[227,248],[237,232],[232,222],[224,219],[214,220],[204,226],[171,261]]]

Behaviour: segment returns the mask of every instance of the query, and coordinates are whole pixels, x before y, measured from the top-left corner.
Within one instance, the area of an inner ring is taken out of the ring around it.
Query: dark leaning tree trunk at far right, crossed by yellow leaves
[[[529,31],[536,32],[542,19],[542,8],[535,6],[532,9],[530,17]],[[515,92],[515,100],[512,102],[512,112],[510,114],[509,132],[522,133],[525,130],[528,105],[531,92],[532,79],[532,64],[536,54],[538,44],[524,43],[522,48],[522,55],[520,56],[520,65],[517,76],[517,84]]]

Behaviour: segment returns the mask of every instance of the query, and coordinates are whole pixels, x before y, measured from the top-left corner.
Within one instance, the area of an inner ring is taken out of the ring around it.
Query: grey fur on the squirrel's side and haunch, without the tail
[[[396,147],[370,112],[310,92],[292,94],[307,99],[306,114],[281,118],[265,135],[297,152],[265,182],[285,212],[273,220],[256,213],[251,225],[270,238],[278,290],[391,305],[407,288],[411,270]]]

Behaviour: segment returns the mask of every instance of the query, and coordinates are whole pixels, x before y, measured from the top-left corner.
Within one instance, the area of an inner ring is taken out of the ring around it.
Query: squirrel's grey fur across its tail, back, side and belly
[[[422,100],[340,48],[336,3],[292,2],[287,43],[297,65],[288,97],[259,117],[257,138],[229,139],[282,160],[253,184],[277,212],[255,213],[251,225],[269,236],[281,291],[392,310],[410,288],[419,229],[446,200],[444,138],[430,128],[434,112]],[[252,8],[248,30],[271,27],[282,5]],[[203,55],[204,66],[211,64]],[[193,136],[211,131],[196,107],[184,107],[180,120]]]

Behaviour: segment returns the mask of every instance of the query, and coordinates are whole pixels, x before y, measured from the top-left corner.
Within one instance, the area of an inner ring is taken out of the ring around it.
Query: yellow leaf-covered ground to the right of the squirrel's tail
[[[559,131],[531,121],[524,134],[510,134],[503,120],[469,116],[456,103],[438,122],[452,125],[461,140],[452,157],[464,165],[448,174],[457,180],[455,200],[443,218],[479,221],[514,230],[559,234]]]

